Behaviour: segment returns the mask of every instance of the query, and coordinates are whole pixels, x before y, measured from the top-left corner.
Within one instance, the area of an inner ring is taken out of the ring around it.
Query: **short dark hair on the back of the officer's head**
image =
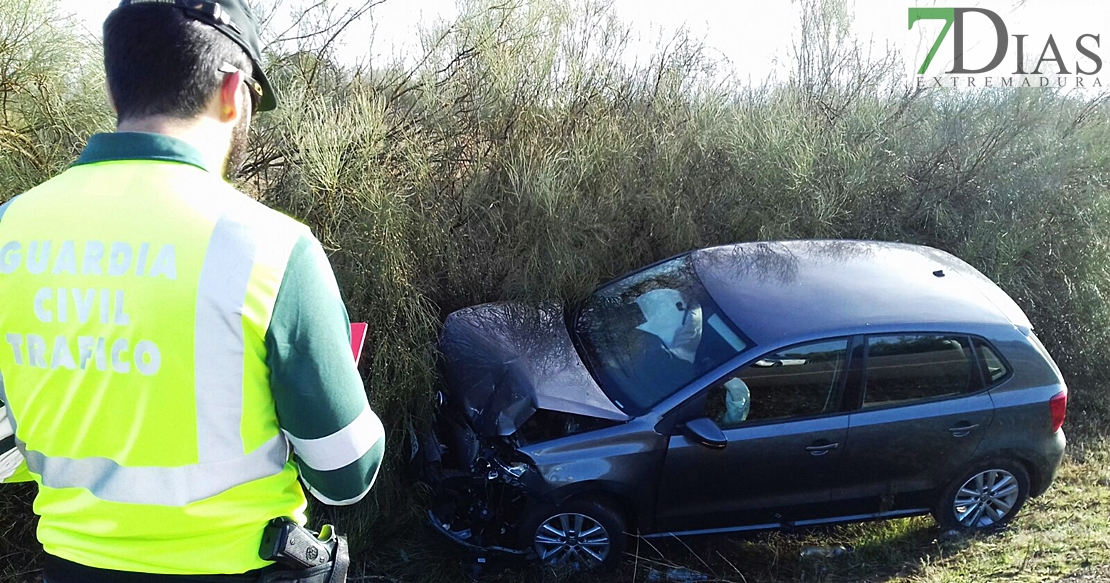
[[[120,121],[199,115],[220,90],[223,63],[252,70],[239,44],[175,8],[131,6],[104,21],[104,73]]]

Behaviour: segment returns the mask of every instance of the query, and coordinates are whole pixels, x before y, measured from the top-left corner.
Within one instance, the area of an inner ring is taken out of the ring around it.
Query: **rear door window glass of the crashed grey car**
[[[864,408],[966,393],[977,386],[967,336],[892,334],[867,339]]]

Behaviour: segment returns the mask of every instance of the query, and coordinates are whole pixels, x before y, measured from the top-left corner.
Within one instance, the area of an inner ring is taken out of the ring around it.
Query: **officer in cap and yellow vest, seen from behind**
[[[276,107],[244,4],[124,0],[117,131],[0,207],[0,401],[49,583],[256,580],[302,483],[350,504],[377,473],[320,243],[224,179]]]

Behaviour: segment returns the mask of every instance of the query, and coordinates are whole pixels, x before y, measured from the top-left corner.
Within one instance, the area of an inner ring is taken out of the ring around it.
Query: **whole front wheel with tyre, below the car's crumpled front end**
[[[533,506],[521,521],[521,542],[546,565],[602,570],[620,562],[627,545],[624,517],[592,500]]]

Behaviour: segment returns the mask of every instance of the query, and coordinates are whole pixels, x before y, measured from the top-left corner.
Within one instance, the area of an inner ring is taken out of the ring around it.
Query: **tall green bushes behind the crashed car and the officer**
[[[1106,96],[906,88],[897,56],[847,36],[842,3],[801,4],[789,79],[759,87],[684,34],[630,62],[628,31],[586,0],[464,2],[424,32],[418,59],[375,69],[339,63],[326,44],[270,56],[283,103],[255,120],[243,188],[330,251],[352,318],[370,322],[363,371],[390,431],[373,500],[319,510],[356,550],[390,563],[426,549],[384,541],[423,535],[406,432],[428,419],[446,313],[573,302],[699,247],[860,238],[948,250],[1033,320],[1071,384],[1069,426],[1093,434],[1110,419]],[[92,61],[64,74],[53,58],[27,62],[48,80],[99,74]],[[103,107],[90,107],[99,89],[44,87],[54,109],[34,109],[27,83],[0,84],[21,103],[0,118],[19,135],[0,137],[0,201],[103,125]]]

